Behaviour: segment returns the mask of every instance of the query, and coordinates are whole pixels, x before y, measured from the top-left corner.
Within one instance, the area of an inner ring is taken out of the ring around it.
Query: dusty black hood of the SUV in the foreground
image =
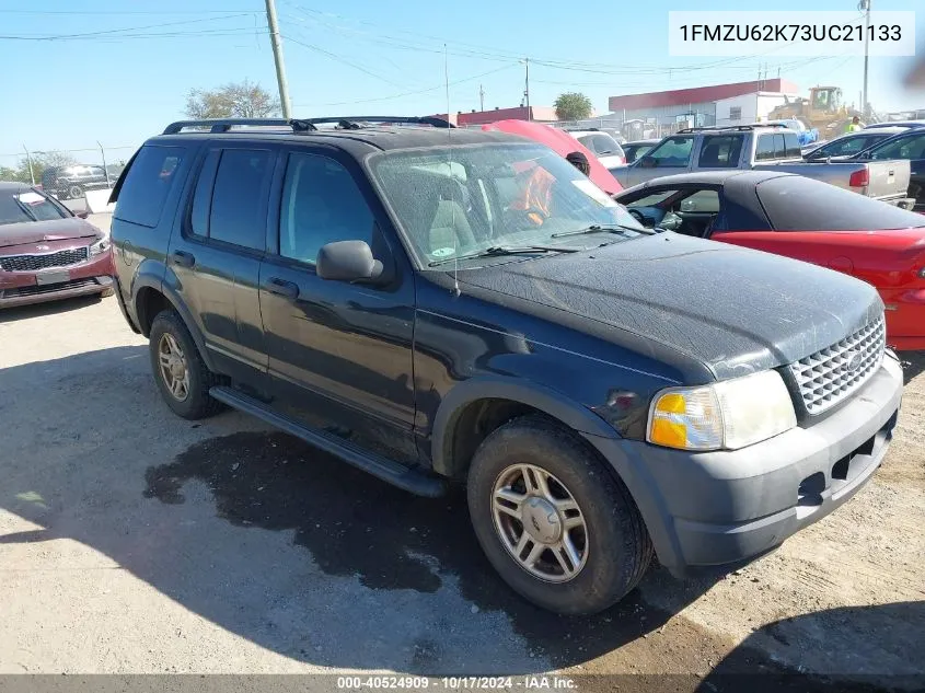
[[[799,360],[883,310],[876,289],[846,275],[672,232],[459,280],[579,315],[614,343],[656,340],[718,380]]]

